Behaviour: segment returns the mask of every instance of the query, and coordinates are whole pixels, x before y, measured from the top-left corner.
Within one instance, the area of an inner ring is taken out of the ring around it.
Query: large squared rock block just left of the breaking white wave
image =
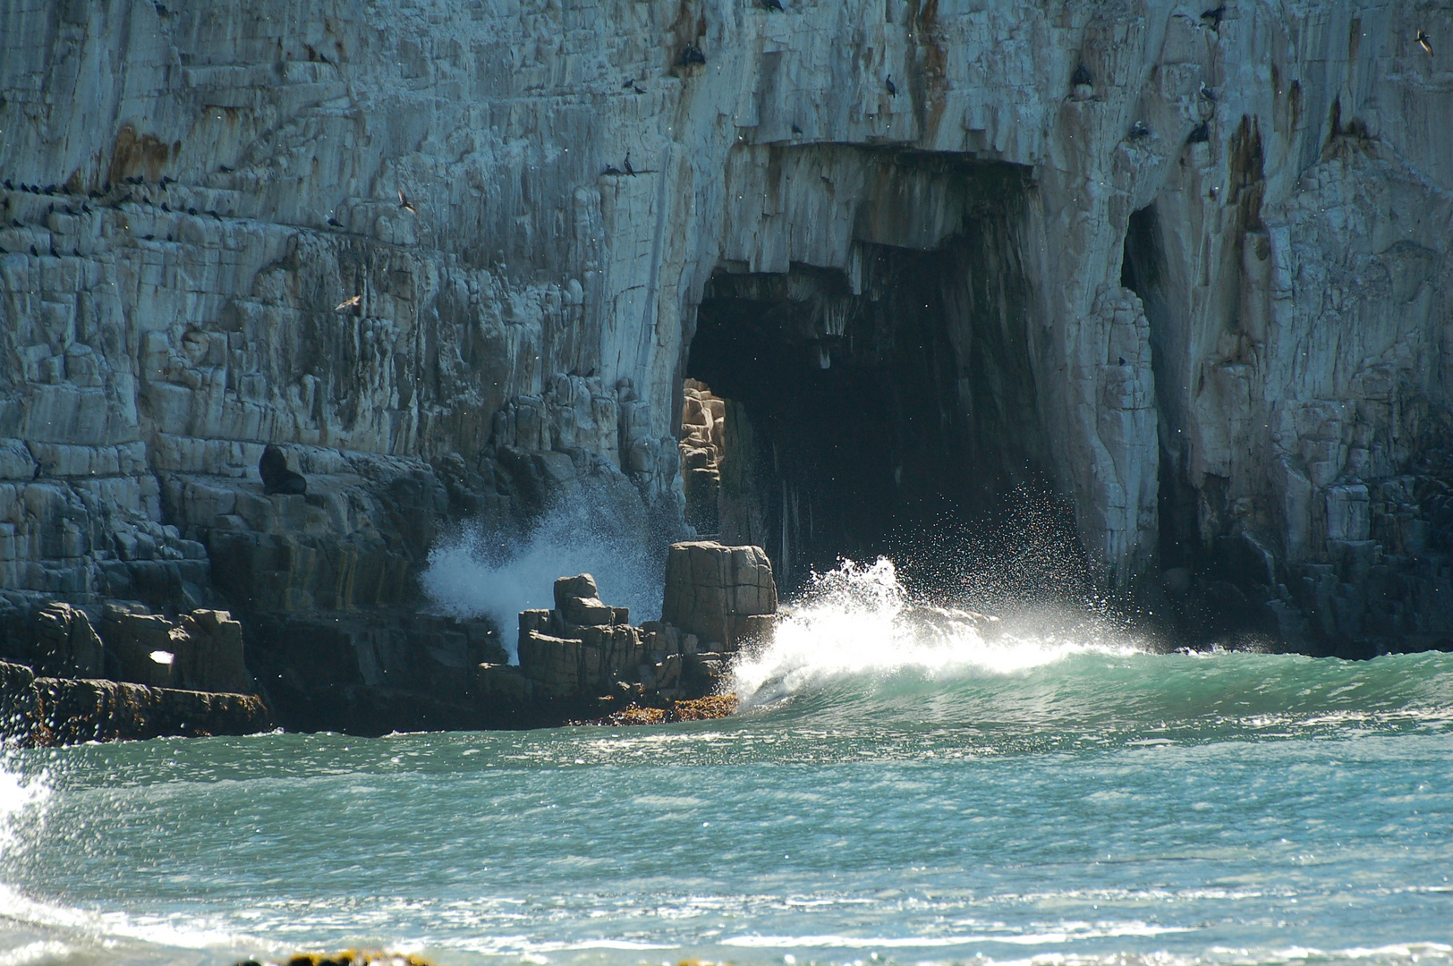
[[[735,651],[772,632],[777,585],[758,546],[673,543],[661,622]]]

